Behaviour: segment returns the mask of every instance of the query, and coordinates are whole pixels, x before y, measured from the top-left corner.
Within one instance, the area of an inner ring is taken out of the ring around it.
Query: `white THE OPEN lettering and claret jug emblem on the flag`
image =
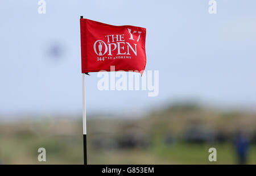
[[[106,35],[105,39],[96,40],[93,44],[93,49],[98,61],[116,58],[132,58],[137,56],[137,43],[141,37],[141,31],[133,31],[127,28],[129,36],[125,34]]]

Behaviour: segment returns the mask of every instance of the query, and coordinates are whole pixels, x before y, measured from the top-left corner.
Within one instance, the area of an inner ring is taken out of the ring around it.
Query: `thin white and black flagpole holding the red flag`
[[[84,18],[80,16],[80,18]],[[85,73],[82,73],[82,136],[84,141],[84,165],[87,165]]]

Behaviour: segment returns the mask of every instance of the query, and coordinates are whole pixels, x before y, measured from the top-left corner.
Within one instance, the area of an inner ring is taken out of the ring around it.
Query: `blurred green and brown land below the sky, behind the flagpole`
[[[89,164],[238,164],[236,139],[256,164],[256,114],[172,104],[142,118],[88,117]],[[38,120],[35,120],[38,119]],[[72,120],[73,119],[73,120]],[[82,164],[81,117],[30,117],[0,125],[1,164]],[[39,162],[38,148],[47,162]],[[217,162],[209,162],[209,148]]]

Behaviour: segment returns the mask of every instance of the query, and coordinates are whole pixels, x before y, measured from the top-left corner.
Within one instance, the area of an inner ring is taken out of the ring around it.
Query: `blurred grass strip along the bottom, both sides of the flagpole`
[[[90,141],[88,141],[90,143]],[[82,164],[82,136],[16,136],[0,139],[2,164]],[[37,149],[47,150],[47,162],[37,160]],[[208,161],[208,149],[217,149],[217,162]],[[249,162],[256,164],[256,145],[250,146]],[[148,149],[88,150],[89,164],[236,164],[231,144],[171,145],[155,143]]]

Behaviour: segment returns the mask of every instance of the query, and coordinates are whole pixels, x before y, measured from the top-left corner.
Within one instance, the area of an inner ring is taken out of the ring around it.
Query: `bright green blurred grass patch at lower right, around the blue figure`
[[[209,162],[209,148],[216,148],[217,162]],[[155,149],[159,156],[175,164],[237,164],[234,146],[227,144],[186,144],[177,143],[173,146],[159,146]],[[247,164],[256,164],[256,145],[251,145]]]

